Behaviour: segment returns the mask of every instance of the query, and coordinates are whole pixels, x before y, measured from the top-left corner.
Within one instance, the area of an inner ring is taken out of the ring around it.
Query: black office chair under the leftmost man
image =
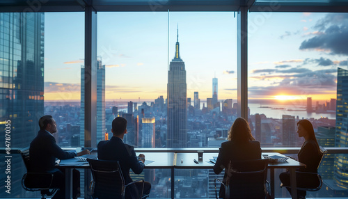
[[[22,186],[26,191],[41,191],[41,198],[52,196],[58,188],[52,187],[52,173],[32,173],[30,170],[29,147],[18,150],[22,155],[26,173],[22,177]]]

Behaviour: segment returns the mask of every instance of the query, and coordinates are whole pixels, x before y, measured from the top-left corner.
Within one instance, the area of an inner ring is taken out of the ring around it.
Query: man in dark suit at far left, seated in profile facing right
[[[29,172],[38,173],[53,173],[53,182],[51,187],[59,188],[54,194],[52,199],[64,199],[65,198],[65,177],[64,173],[55,168],[56,158],[58,159],[70,159],[75,156],[81,156],[84,154],[90,154],[88,150],[81,152],[65,152],[57,144],[56,139],[52,134],[57,132],[56,121],[52,116],[42,116],[39,120],[40,131],[30,143],[29,157],[30,157],[30,170]],[[73,170],[74,184],[73,184],[73,197],[79,196],[79,180],[80,173],[78,170]]]

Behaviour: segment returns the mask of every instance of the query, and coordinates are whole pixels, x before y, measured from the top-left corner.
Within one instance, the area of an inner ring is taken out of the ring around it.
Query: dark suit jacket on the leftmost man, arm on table
[[[74,152],[65,152],[57,144],[52,134],[40,130],[30,143],[30,168],[31,172],[55,172],[56,158],[70,159],[76,156]]]

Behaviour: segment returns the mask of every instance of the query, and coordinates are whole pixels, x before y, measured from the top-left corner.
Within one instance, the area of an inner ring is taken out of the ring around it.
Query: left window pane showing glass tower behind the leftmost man
[[[74,136],[79,135],[81,115],[84,13],[0,13],[0,27],[0,127],[10,121],[10,148],[29,146],[45,114],[57,122],[58,145],[79,146]],[[1,139],[1,147],[5,141]],[[26,170],[19,154],[13,154],[11,168],[11,196],[39,196],[22,189]],[[4,185],[0,197],[8,197]]]

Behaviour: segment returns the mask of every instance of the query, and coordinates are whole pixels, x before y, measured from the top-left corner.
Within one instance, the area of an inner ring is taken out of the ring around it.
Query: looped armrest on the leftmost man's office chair
[[[27,191],[52,189],[52,173],[25,173],[22,177],[22,186]]]

